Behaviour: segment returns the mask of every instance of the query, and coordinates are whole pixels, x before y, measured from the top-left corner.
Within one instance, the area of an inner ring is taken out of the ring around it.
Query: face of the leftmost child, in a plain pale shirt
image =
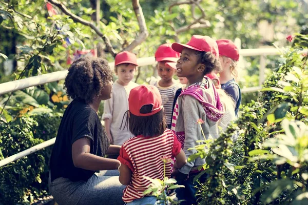
[[[133,64],[128,64],[128,66],[125,66],[125,64],[119,65],[117,72],[115,73],[119,77],[118,82],[123,86],[127,86],[128,83],[132,80],[135,71],[136,66]]]

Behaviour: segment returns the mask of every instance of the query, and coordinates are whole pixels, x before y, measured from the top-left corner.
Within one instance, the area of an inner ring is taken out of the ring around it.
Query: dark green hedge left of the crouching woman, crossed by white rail
[[[0,123],[0,160],[56,136],[57,113],[17,117]],[[30,204],[47,194],[48,161],[52,147],[0,168],[0,204]]]

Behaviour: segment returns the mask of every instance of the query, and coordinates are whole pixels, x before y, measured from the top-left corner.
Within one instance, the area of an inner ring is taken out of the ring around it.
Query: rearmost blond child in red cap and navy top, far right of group
[[[237,115],[241,104],[241,89],[236,83],[238,77],[237,61],[239,60],[239,49],[228,39],[216,41],[219,49],[219,59],[222,71],[219,73],[221,88],[224,89],[236,103],[235,114]]]

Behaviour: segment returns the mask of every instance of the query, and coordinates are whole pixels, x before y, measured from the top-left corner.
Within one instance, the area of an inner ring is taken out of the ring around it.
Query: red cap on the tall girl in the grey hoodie
[[[207,35],[193,35],[187,44],[173,43],[172,49],[181,53],[183,48],[196,51],[211,52],[218,57],[218,46],[215,40]]]

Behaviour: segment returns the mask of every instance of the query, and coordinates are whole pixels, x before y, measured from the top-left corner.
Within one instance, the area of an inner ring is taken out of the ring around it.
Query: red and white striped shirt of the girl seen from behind
[[[131,170],[131,181],[123,191],[123,201],[131,202],[146,196],[143,194],[151,182],[143,176],[152,179],[164,179],[164,164],[162,157],[177,156],[181,151],[181,143],[174,132],[166,129],[157,137],[138,135],[124,142],[118,159]],[[166,177],[171,175],[171,162],[166,163]]]

